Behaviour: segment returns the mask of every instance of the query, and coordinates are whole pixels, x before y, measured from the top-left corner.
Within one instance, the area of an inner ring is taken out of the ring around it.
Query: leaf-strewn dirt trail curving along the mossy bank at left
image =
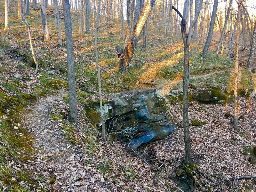
[[[37,180],[43,178],[39,182],[41,187],[56,176],[47,191],[84,191],[81,182],[77,183],[77,180],[83,180],[81,177],[86,171],[80,159],[82,149],[67,141],[60,123],[53,122],[49,115],[54,105],[63,102],[65,95],[62,91],[58,95],[41,98],[21,116],[21,122],[25,122],[22,126],[35,136],[33,148],[38,151],[37,159],[25,164]]]

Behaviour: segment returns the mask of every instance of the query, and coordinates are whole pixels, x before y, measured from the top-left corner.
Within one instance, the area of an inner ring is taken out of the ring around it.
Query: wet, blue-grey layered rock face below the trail
[[[165,100],[156,91],[117,93],[104,103],[106,130],[116,132],[135,150],[143,143],[164,139],[175,130],[163,114]],[[100,125],[99,103],[83,106],[93,125]]]

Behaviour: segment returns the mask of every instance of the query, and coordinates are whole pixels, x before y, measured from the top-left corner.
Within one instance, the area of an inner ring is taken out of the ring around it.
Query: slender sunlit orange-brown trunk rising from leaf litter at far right
[[[241,6],[243,0],[238,0],[238,11],[237,11],[237,28],[236,28],[236,47],[235,47],[235,60],[234,60],[234,119],[233,119],[233,128],[238,129],[238,105],[237,105],[237,89],[238,89],[238,59],[239,59],[239,35],[240,35],[240,22],[241,22]]]

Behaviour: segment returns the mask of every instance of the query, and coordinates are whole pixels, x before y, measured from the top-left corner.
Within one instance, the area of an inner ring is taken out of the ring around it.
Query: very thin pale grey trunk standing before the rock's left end
[[[100,95],[100,119],[101,119],[101,128],[102,128],[102,140],[105,142],[105,119],[103,114],[103,107],[102,107],[102,95],[101,95],[101,78],[100,78],[100,66],[98,61],[98,48],[97,48],[97,38],[98,38],[98,29],[100,23],[100,0],[99,0],[99,7],[97,13],[97,27],[95,31],[95,56],[96,56],[96,66],[98,72],[98,84],[99,84],[99,95]]]

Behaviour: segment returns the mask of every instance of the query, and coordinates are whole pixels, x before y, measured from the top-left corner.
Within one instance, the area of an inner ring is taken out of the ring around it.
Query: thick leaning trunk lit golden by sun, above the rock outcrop
[[[132,56],[134,54],[134,51],[136,49],[136,45],[138,43],[138,39],[140,36],[140,33],[142,31],[143,26],[145,25],[149,13],[152,10],[153,5],[155,4],[155,0],[148,0],[147,3],[145,4],[143,11],[140,15],[140,18],[132,31],[131,37],[127,44],[124,47],[124,54],[118,61],[118,68],[120,68],[123,72],[127,71],[129,64],[132,60]]]

